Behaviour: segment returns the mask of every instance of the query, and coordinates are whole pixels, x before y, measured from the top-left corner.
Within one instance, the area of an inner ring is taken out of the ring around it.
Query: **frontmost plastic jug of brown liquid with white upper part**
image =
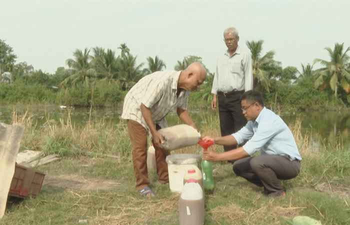
[[[203,190],[196,182],[183,185],[178,203],[180,225],[202,225],[204,223]]]

